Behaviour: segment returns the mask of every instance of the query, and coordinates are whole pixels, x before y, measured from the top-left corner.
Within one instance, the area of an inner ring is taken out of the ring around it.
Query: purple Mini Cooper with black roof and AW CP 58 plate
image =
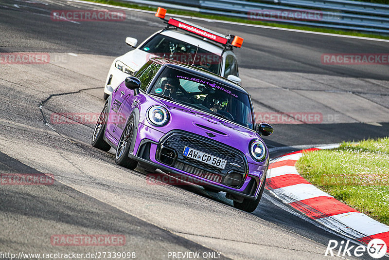
[[[255,125],[250,95],[241,86],[196,67],[150,59],[108,97],[92,146],[116,149],[123,167],[156,169],[225,191],[236,208],[256,209],[269,152]]]

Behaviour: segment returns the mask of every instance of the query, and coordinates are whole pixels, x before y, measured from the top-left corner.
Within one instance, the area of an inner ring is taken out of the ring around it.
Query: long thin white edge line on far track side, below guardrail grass
[[[68,2],[69,1],[85,3],[85,4],[91,4],[91,5],[101,5],[101,6],[107,6],[107,7],[114,7],[114,8],[118,8],[118,9],[125,9],[125,10],[142,12],[142,13],[155,14],[155,11],[140,10],[140,9],[134,9],[134,8],[129,8],[129,7],[123,7],[123,6],[109,5],[109,4],[105,4],[105,3],[94,3],[94,2],[87,2],[87,1],[82,1],[82,0],[68,0]],[[166,15],[169,15],[169,14],[167,13]],[[352,39],[361,39],[361,40],[372,40],[372,41],[389,42],[389,40],[387,40],[387,39],[379,39],[379,38],[369,38],[369,37],[359,37],[359,36],[352,36],[352,35],[340,35],[340,34],[312,32],[312,31],[304,31],[304,30],[299,30],[299,29],[289,29],[289,28],[281,28],[281,27],[259,25],[259,24],[249,24],[249,23],[223,21],[223,20],[215,20],[215,19],[204,19],[204,18],[193,17],[193,16],[183,16],[183,15],[173,15],[173,14],[171,14],[170,16],[189,18],[189,19],[195,19],[195,20],[203,20],[203,21],[209,21],[209,22],[219,22],[219,23],[227,23],[227,24],[234,24],[234,25],[242,25],[242,26],[248,26],[248,27],[281,30],[281,31],[289,31],[289,32],[296,32],[296,33],[304,33],[304,34],[316,34],[316,35],[323,35],[323,36],[334,36],[334,37],[342,37],[342,38],[352,38]]]

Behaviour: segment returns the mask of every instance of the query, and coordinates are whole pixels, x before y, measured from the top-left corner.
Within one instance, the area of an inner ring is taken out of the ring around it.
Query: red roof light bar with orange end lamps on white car
[[[207,39],[216,41],[223,45],[234,46],[241,48],[243,43],[243,38],[234,35],[222,35],[216,32],[213,32],[207,28],[201,27],[197,24],[189,23],[185,20],[170,18],[169,20],[165,19],[166,9],[158,7],[156,17],[163,19],[167,24],[175,26],[179,29],[185,30],[187,32],[199,35],[201,37],[205,37]]]

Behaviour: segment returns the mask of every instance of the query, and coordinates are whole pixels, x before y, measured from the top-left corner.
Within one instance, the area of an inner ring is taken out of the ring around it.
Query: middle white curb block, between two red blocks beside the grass
[[[318,189],[312,184],[299,183],[291,186],[277,188],[272,190],[285,203],[292,203],[306,199],[312,199],[319,196],[332,197],[328,193]]]

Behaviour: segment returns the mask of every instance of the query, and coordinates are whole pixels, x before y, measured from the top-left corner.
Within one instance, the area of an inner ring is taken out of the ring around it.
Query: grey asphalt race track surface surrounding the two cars
[[[124,234],[126,244],[119,251],[136,252],[138,259],[169,259],[169,252],[320,259],[329,240],[343,240],[293,214],[266,191],[248,214],[231,207],[224,194],[199,186],[149,185],[142,169],[117,167],[112,152],[89,145],[93,125],[53,124],[53,113],[99,113],[109,65],[129,50],[124,38],[141,41],[163,28],[152,14],[135,11],[126,11],[127,19],[120,22],[50,19],[52,10],[63,9],[104,8],[67,1],[0,1],[0,52],[52,57],[50,64],[0,64],[0,171],[51,173],[56,180],[52,186],[0,186],[1,252],[118,251],[54,246],[50,238]],[[280,149],[285,146],[388,135],[388,66],[320,62],[323,53],[388,53],[388,42],[195,22],[245,38],[236,53],[256,111],[323,115],[320,124],[274,125],[274,136],[265,139],[275,150],[272,157],[288,151]]]

